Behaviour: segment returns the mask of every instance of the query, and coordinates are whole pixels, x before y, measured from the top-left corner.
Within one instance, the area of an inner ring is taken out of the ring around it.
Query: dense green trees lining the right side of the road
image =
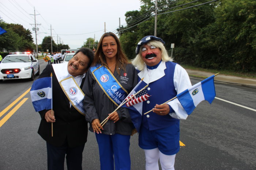
[[[177,63],[255,72],[256,1],[218,0],[195,6],[207,1],[184,5],[191,0],[158,0],[157,36],[165,41],[169,53],[171,44],[175,44],[173,58]],[[127,25],[118,29],[122,48],[130,59],[135,57],[140,39],[154,35],[155,1],[141,3],[139,11],[125,13]],[[187,8],[191,6],[195,7]]]

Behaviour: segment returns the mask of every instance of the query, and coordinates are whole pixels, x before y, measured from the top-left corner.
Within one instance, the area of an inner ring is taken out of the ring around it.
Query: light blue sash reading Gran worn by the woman
[[[101,65],[91,67],[90,70],[108,98],[119,106],[128,95],[128,92],[121,86],[112,72]]]

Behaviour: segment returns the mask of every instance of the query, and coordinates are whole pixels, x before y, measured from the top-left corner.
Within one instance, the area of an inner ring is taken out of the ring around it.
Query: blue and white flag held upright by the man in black
[[[52,83],[50,77],[37,79],[32,84],[30,96],[35,111],[52,108]]]

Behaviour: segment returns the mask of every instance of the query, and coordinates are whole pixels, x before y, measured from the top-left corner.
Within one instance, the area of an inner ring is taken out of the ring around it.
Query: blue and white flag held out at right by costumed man
[[[182,91],[180,94],[177,94],[178,100],[188,115],[190,115],[197,104],[203,100],[207,100],[210,104],[212,103],[216,96],[214,77],[215,75],[212,75],[187,90]]]

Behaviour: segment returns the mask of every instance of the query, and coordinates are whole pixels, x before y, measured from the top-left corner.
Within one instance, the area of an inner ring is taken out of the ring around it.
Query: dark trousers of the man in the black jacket
[[[62,146],[53,146],[46,142],[48,170],[64,170],[65,155],[68,170],[82,170],[84,144],[69,147],[67,139]]]

